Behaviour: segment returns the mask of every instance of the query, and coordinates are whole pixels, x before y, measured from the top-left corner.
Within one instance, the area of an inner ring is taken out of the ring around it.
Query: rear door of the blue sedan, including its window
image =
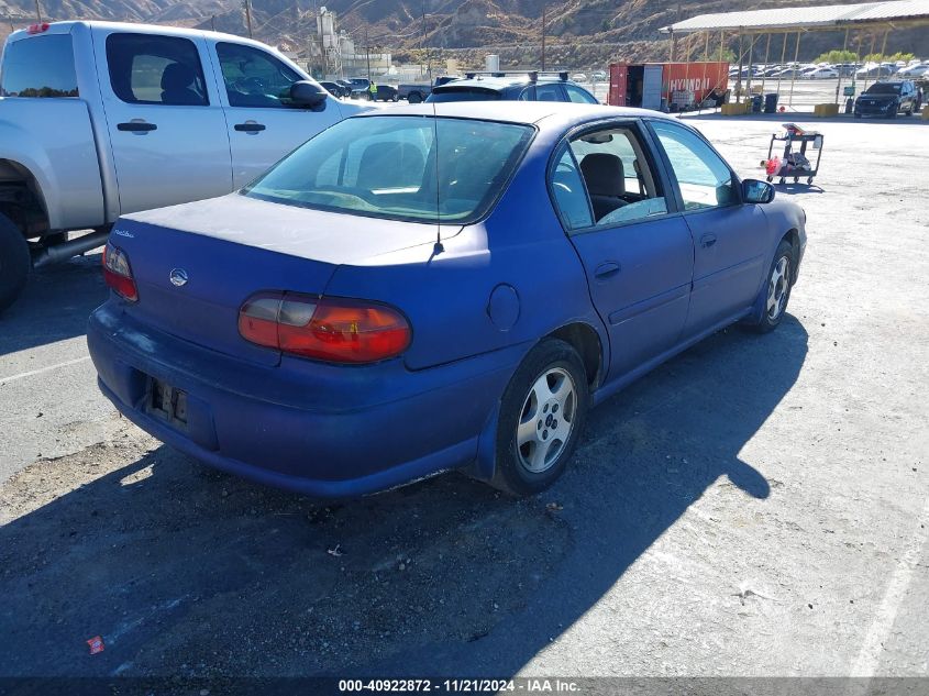
[[[552,177],[562,223],[609,331],[615,379],[678,342],[694,268],[690,234],[671,214],[666,184],[634,121],[572,140]]]

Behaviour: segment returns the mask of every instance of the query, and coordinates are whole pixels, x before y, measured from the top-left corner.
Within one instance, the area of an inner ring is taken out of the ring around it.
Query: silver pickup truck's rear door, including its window
[[[200,37],[95,27],[122,214],[232,190],[225,118]]]

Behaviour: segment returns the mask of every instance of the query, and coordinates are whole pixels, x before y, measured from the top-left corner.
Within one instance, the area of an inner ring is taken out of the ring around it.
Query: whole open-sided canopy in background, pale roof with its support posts
[[[788,58],[788,34],[796,34],[790,41],[793,48],[793,64],[796,65],[800,52],[800,38],[808,32],[844,32],[842,49],[850,48],[850,36],[855,40],[855,55],[859,60],[862,56],[862,45],[865,36],[870,38],[869,54],[874,53],[877,36],[883,34],[881,42],[881,54],[887,46],[887,35],[895,30],[910,29],[914,26],[929,25],[929,0],[889,0],[885,2],[863,2],[858,4],[828,4],[814,7],[778,8],[773,10],[749,10],[741,12],[718,12],[714,14],[700,14],[698,16],[675,22],[659,31],[671,36],[671,60],[674,60],[677,43],[684,44],[683,53],[685,60],[690,60],[690,54],[695,48],[699,53],[704,44],[704,56],[710,54],[710,41],[719,42],[720,55],[722,55],[727,38],[738,37],[739,51],[739,82],[736,89],[737,102],[742,99],[744,92],[752,92],[752,62],[761,58],[761,51],[755,54],[755,45],[764,43],[763,36],[767,35],[764,44],[764,63],[767,64],[772,57],[777,59],[777,45],[775,44],[774,56],[771,55],[772,35],[778,35],[777,43],[781,45],[779,63],[784,64]],[[781,35],[783,34],[783,41]],[[718,38],[717,38],[718,36]],[[865,44],[866,45],[866,44]],[[761,46],[759,46],[761,48]],[[745,88],[742,88],[742,66],[748,62],[749,74]],[[878,69],[880,75],[880,69]],[[790,76],[789,104],[793,104],[794,81],[796,71]],[[781,95],[781,78],[777,77],[777,93]],[[761,89],[764,90],[765,78],[761,79]],[[864,80],[865,87],[867,78]],[[842,76],[836,86],[836,104],[840,99],[840,87]],[[852,76],[854,92],[855,78]]]

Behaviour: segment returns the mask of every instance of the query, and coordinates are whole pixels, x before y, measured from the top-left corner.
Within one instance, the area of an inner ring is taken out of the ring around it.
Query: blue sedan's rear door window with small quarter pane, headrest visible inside
[[[568,214],[552,181],[555,200],[565,222],[576,219],[572,229],[616,227],[667,212],[667,201],[661,190],[661,180],[645,155],[642,141],[634,125],[618,125],[583,133],[571,141],[573,162],[578,163],[593,222],[584,223],[582,216]],[[564,166],[555,169],[557,175]],[[564,176],[564,175],[562,175]]]

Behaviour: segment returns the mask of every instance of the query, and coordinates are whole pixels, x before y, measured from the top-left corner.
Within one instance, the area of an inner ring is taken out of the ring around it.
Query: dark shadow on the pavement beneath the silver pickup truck
[[[34,270],[20,298],[0,312],[0,355],[84,335],[107,292],[100,252]]]

